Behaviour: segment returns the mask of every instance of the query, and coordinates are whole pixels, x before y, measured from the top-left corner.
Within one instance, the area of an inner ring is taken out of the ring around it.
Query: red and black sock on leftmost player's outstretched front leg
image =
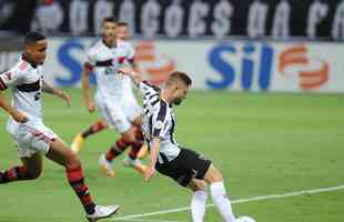
[[[79,200],[83,205],[84,211],[88,214],[94,213],[95,204],[92,201],[88,185],[84,183],[81,167],[75,169],[65,169],[65,173],[68,181],[79,196]]]

